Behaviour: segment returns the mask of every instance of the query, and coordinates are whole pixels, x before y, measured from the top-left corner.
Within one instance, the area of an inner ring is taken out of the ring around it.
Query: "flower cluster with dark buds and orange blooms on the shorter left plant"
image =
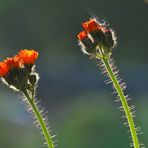
[[[21,50],[17,55],[0,62],[0,77],[8,86],[23,91],[28,85],[35,86],[37,78],[34,73],[34,62],[38,52],[34,50]]]

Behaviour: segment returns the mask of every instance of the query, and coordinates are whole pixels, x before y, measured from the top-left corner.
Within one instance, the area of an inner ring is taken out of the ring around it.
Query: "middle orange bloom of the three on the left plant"
[[[6,63],[9,69],[20,68],[23,66],[23,61],[18,55],[12,58],[7,58],[4,62]]]

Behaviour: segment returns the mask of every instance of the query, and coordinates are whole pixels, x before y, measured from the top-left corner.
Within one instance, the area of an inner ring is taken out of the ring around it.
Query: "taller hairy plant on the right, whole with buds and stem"
[[[127,119],[125,125],[129,126],[132,143],[134,148],[144,148],[144,145],[139,141],[138,134],[139,128],[136,128],[134,123],[135,111],[134,106],[128,105],[130,98],[125,95],[126,84],[122,82],[119,77],[117,67],[112,58],[112,49],[116,46],[115,32],[109,27],[108,24],[101,23],[97,18],[82,23],[83,31],[78,34],[79,45],[84,54],[91,58],[99,60],[99,66],[103,74],[107,76],[106,83],[112,83],[117,100],[121,101],[122,106],[120,109],[124,112]]]

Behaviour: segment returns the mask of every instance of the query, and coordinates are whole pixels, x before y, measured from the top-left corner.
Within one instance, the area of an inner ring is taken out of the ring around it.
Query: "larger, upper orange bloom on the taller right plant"
[[[101,26],[96,22],[95,19],[91,19],[87,22],[82,23],[82,27],[87,33],[91,33],[92,31],[99,30]]]

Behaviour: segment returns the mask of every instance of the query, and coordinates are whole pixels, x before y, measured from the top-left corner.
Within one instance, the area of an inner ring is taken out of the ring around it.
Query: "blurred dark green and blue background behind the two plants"
[[[131,139],[111,86],[83,55],[77,34],[87,7],[110,22],[118,38],[113,57],[136,105],[136,125],[148,146],[148,1],[0,0],[0,59],[37,49],[38,98],[59,148],[127,148]],[[42,148],[21,97],[0,83],[0,148]]]

